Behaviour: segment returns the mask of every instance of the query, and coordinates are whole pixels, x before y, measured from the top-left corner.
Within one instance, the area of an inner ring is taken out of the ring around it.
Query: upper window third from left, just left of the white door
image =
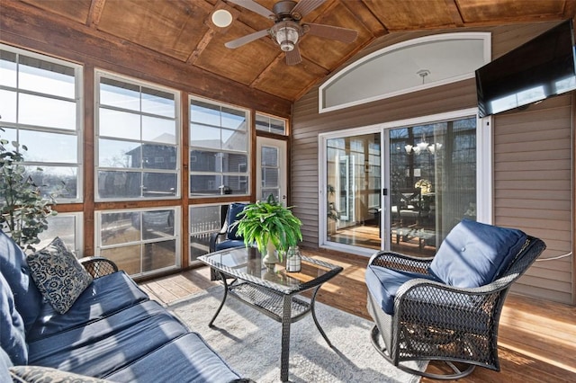
[[[248,111],[190,99],[190,195],[247,194]]]

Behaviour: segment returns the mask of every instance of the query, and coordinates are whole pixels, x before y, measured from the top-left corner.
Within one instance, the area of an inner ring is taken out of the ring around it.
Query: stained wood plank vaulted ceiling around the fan
[[[256,1],[267,9],[275,4],[275,0]],[[238,49],[225,48],[224,43],[229,40],[273,25],[271,20],[225,0],[22,0],[22,3],[50,13],[62,22],[82,24],[103,39],[128,41],[294,102],[385,34],[568,19],[574,16],[575,1],[327,0],[302,21],[354,29],[358,37],[347,44],[306,34],[299,42],[302,63],[296,66],[285,64],[284,52],[268,37]],[[221,8],[233,16],[227,28],[216,27],[210,21],[211,13]]]

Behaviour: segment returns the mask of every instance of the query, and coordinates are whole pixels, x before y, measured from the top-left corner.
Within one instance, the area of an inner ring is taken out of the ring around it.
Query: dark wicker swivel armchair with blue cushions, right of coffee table
[[[504,300],[545,247],[518,229],[464,219],[434,257],[374,254],[365,273],[374,347],[401,370],[431,379],[464,378],[476,366],[500,370]],[[444,361],[449,372],[402,361]]]

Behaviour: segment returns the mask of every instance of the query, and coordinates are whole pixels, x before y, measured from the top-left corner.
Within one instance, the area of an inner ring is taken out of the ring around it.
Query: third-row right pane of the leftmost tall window
[[[78,163],[76,135],[21,129],[20,142],[28,147],[28,151],[24,152],[26,161]],[[47,150],[47,147],[54,149]]]

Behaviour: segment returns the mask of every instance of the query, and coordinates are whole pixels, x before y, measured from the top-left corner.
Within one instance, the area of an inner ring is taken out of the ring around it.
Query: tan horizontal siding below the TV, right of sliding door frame
[[[496,116],[494,222],[545,240],[513,290],[572,303],[572,95]]]

